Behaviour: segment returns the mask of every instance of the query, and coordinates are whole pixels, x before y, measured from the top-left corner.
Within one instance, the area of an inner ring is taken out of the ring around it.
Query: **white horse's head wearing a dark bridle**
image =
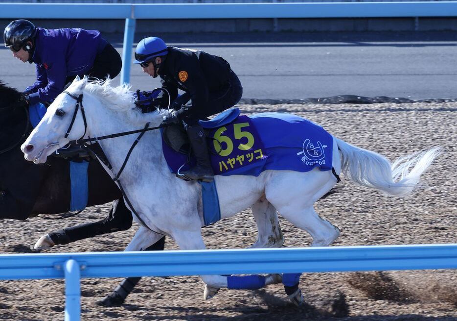
[[[21,146],[26,160],[45,163],[47,156],[54,151],[84,136],[86,124],[80,99],[86,84],[86,77],[76,77],[67,91],[57,96],[47,108],[45,117]]]

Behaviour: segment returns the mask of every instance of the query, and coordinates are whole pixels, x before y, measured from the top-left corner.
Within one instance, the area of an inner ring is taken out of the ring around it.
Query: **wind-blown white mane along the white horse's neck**
[[[154,118],[162,119],[166,114],[166,110],[157,110],[152,113],[143,114],[136,108],[134,101],[134,93],[130,91],[131,85],[122,84],[120,86],[111,86],[113,79],[109,78],[105,81],[90,81],[88,77],[84,76],[80,80],[74,81],[67,91],[73,95],[79,95],[83,92],[89,93],[97,98],[109,109],[114,112],[124,113],[133,122],[147,122]]]

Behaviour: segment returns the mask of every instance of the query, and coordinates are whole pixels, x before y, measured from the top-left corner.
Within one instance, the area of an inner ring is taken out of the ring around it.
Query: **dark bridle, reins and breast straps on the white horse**
[[[113,174],[113,181],[115,183],[117,183],[117,186],[119,186],[119,189],[122,193],[122,196],[124,197],[127,205],[132,209],[132,212],[135,214],[135,216],[137,217],[138,221],[141,222],[141,224],[145,227],[147,227],[148,229],[150,229],[151,231],[153,232],[156,232],[154,231],[152,228],[150,228],[142,219],[141,217],[139,216],[139,214],[137,213],[137,211],[135,210],[135,207],[133,207],[132,203],[130,202],[130,199],[127,197],[127,194],[125,193],[125,190],[124,188],[122,187],[122,184],[119,180],[119,177],[120,175],[122,174],[122,172],[124,171],[124,168],[125,166],[127,165],[127,162],[130,158],[130,155],[132,154],[132,151],[133,149],[137,146],[139,140],[143,137],[144,133],[146,131],[149,131],[149,130],[154,130],[154,129],[159,129],[159,128],[162,128],[164,126],[158,126],[158,127],[151,127],[149,128],[149,123],[146,123],[146,125],[144,126],[143,129],[138,129],[138,130],[131,130],[131,131],[126,131],[126,132],[122,132],[122,133],[117,133],[117,134],[113,134],[113,135],[106,135],[106,136],[101,136],[101,137],[95,137],[95,138],[89,138],[89,139],[82,139],[85,135],[86,135],[86,132],[87,132],[87,121],[86,121],[86,113],[84,112],[84,107],[83,107],[83,94],[80,94],[78,97],[70,94],[69,92],[67,91],[64,91],[65,94],[69,95],[71,98],[73,99],[76,99],[76,105],[75,105],[75,109],[74,109],[74,112],[73,112],[73,117],[71,119],[71,123],[67,129],[67,132],[65,134],[65,138],[67,138],[69,136],[69,133],[71,131],[71,128],[73,127],[73,123],[76,119],[76,114],[78,113],[78,109],[81,109],[81,113],[83,115],[83,119],[84,119],[84,135],[78,139],[78,140],[74,140],[74,141],[70,141],[70,143],[75,143],[75,144],[83,144],[83,146],[85,148],[88,148],[90,149],[94,154],[95,156],[98,157],[98,159],[100,159],[100,161],[111,171],[111,173]],[[125,156],[125,159],[124,159],[124,162],[122,163],[122,166],[119,170],[119,172],[117,174],[114,173],[113,171],[113,166],[111,165],[110,161],[108,160],[108,157],[106,157],[106,154],[105,152],[103,151],[103,149],[101,148],[100,144],[96,143],[96,144],[90,144],[90,145],[87,145],[85,143],[89,143],[89,142],[97,142],[99,140],[102,140],[102,139],[107,139],[107,138],[114,138],[114,137],[120,137],[120,136],[126,136],[126,135],[131,135],[131,134],[135,134],[135,133],[140,133],[137,137],[137,139],[135,140],[135,142],[133,142],[132,146],[130,147],[129,151],[127,152],[127,155]],[[53,144],[53,143],[52,143]],[[158,234],[162,234],[162,233],[159,233],[159,232],[156,232]]]

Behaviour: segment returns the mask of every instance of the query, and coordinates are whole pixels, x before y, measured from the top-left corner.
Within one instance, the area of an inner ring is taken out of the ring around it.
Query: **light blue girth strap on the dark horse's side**
[[[89,162],[87,161],[70,162],[70,211],[82,211],[87,206],[89,198],[88,167]]]

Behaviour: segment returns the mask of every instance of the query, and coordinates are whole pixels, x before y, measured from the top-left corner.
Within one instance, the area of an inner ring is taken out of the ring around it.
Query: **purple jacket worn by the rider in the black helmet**
[[[25,89],[32,93],[30,103],[55,99],[64,90],[67,76],[86,74],[106,44],[97,30],[37,28],[32,56],[37,80]]]

